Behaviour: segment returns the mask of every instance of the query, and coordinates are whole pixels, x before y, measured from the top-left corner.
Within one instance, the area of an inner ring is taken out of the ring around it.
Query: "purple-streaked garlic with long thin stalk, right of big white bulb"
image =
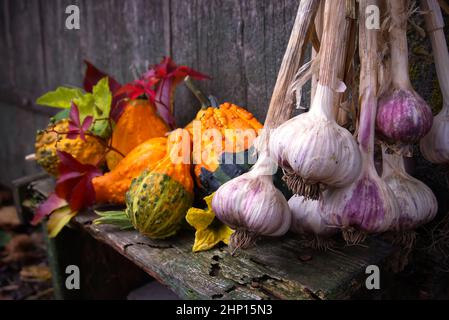
[[[365,21],[368,5],[378,0],[360,1],[360,20]],[[323,196],[322,217],[327,224],[342,228],[348,243],[363,241],[367,233],[386,231],[394,223],[398,204],[391,189],[384,183],[374,166],[374,122],[377,109],[377,31],[359,24],[360,128],[358,142],[363,167],[358,178],[349,186],[329,189]]]

